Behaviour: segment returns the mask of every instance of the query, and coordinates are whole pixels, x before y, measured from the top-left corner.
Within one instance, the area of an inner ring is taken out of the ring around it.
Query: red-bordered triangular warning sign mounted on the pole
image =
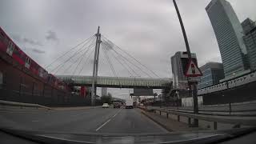
[[[186,66],[186,77],[198,77],[202,76],[201,70],[198,68],[198,66],[190,59],[190,62]]]

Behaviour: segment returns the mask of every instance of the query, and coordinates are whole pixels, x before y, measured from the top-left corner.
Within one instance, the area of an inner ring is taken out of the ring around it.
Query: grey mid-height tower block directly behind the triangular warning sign
[[[192,58],[197,58],[195,53],[191,53]],[[187,78],[184,75],[184,62],[182,63],[182,58],[188,58],[188,55],[186,52],[178,51],[170,58],[171,61],[171,70],[173,73],[173,84],[174,88],[178,88],[180,86],[186,86],[184,85],[184,82],[187,82]]]

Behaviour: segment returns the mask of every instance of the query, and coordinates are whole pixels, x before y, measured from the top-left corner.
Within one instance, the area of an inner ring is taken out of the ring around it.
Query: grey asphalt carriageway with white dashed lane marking
[[[167,131],[138,109],[0,110],[0,127],[74,134],[149,134]]]

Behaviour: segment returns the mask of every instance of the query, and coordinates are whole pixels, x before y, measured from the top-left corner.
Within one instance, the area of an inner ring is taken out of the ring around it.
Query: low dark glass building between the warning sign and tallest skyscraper
[[[202,77],[198,83],[198,89],[217,84],[219,80],[224,78],[222,63],[207,62],[204,66],[200,67],[200,70],[202,71]]]

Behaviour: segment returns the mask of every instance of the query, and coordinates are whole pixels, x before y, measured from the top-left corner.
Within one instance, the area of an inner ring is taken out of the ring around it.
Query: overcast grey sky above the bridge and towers
[[[210,0],[177,0],[198,65],[221,62],[205,7]],[[229,0],[240,22],[256,20],[255,0]],[[101,33],[154,70],[171,78],[170,56],[186,50],[172,0],[1,0],[0,26],[41,66]],[[98,75],[112,76],[100,52]],[[118,76],[130,76],[115,66]],[[92,74],[92,62],[82,71]],[[145,76],[141,74],[142,77]]]

